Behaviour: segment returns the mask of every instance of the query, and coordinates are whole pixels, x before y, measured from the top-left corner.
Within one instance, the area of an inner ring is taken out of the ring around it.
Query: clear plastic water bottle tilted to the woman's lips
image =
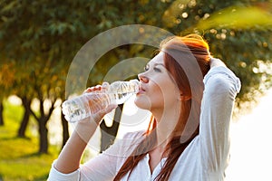
[[[122,104],[139,91],[139,81],[114,81],[107,90],[84,93],[63,102],[63,114],[67,121],[76,122],[88,118],[110,104]]]

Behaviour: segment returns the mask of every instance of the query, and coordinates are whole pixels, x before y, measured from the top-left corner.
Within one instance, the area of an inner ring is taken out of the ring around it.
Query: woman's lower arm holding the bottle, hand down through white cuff
[[[98,86],[88,89],[86,92],[101,89],[102,87]],[[81,158],[87,143],[90,138],[92,138],[92,135],[100,124],[102,117],[114,108],[116,108],[116,105],[110,105],[104,110],[97,112],[95,115],[92,115],[92,117],[80,120],[77,123],[76,128],[73,131],[73,135],[68,139],[58,159],[53,163],[53,167],[48,178],[49,181],[79,179],[79,173],[77,170],[80,167]]]

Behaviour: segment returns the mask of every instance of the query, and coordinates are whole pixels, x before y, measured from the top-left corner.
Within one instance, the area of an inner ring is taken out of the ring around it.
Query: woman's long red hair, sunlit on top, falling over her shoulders
[[[189,34],[184,37],[174,36],[160,44],[160,51],[164,53],[164,64],[170,71],[173,81],[180,89],[180,117],[178,123],[170,135],[170,142],[166,146],[163,156],[167,157],[160,174],[156,180],[168,180],[170,173],[178,158],[190,141],[199,134],[199,114],[200,104],[203,94],[203,77],[209,71],[209,45],[201,36]],[[198,62],[198,68],[190,63]],[[200,76],[197,72],[200,72]],[[198,75],[196,75],[198,74]],[[193,83],[190,80],[193,80]],[[192,85],[193,84],[193,85]],[[195,126],[186,128],[187,123],[195,122]],[[120,180],[128,172],[137,166],[139,161],[157,146],[156,120],[151,117],[149,128],[147,129],[141,144],[135,148],[130,157],[126,159],[121,169],[114,178]],[[186,140],[180,141],[181,136]]]

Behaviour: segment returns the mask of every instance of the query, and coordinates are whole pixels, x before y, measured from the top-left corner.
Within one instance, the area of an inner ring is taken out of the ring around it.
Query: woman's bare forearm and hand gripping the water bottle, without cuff
[[[88,88],[83,93],[107,90],[109,83],[103,83],[92,88]],[[95,98],[95,94],[94,98]],[[102,94],[107,96],[106,94]],[[92,103],[92,99],[90,100]],[[90,104],[89,103],[89,104]],[[100,106],[101,107],[101,106]],[[63,174],[69,174],[80,167],[81,158],[90,138],[99,126],[103,116],[111,112],[117,105],[109,105],[106,108],[98,110],[91,117],[77,122],[73,135],[67,141],[60,156],[54,164],[54,168]]]

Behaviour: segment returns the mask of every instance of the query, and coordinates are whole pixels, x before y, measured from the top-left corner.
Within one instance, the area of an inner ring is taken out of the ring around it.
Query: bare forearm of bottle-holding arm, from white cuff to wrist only
[[[83,152],[97,128],[94,121],[78,123],[73,135],[67,141],[54,167],[63,174],[72,173],[80,167]]]

